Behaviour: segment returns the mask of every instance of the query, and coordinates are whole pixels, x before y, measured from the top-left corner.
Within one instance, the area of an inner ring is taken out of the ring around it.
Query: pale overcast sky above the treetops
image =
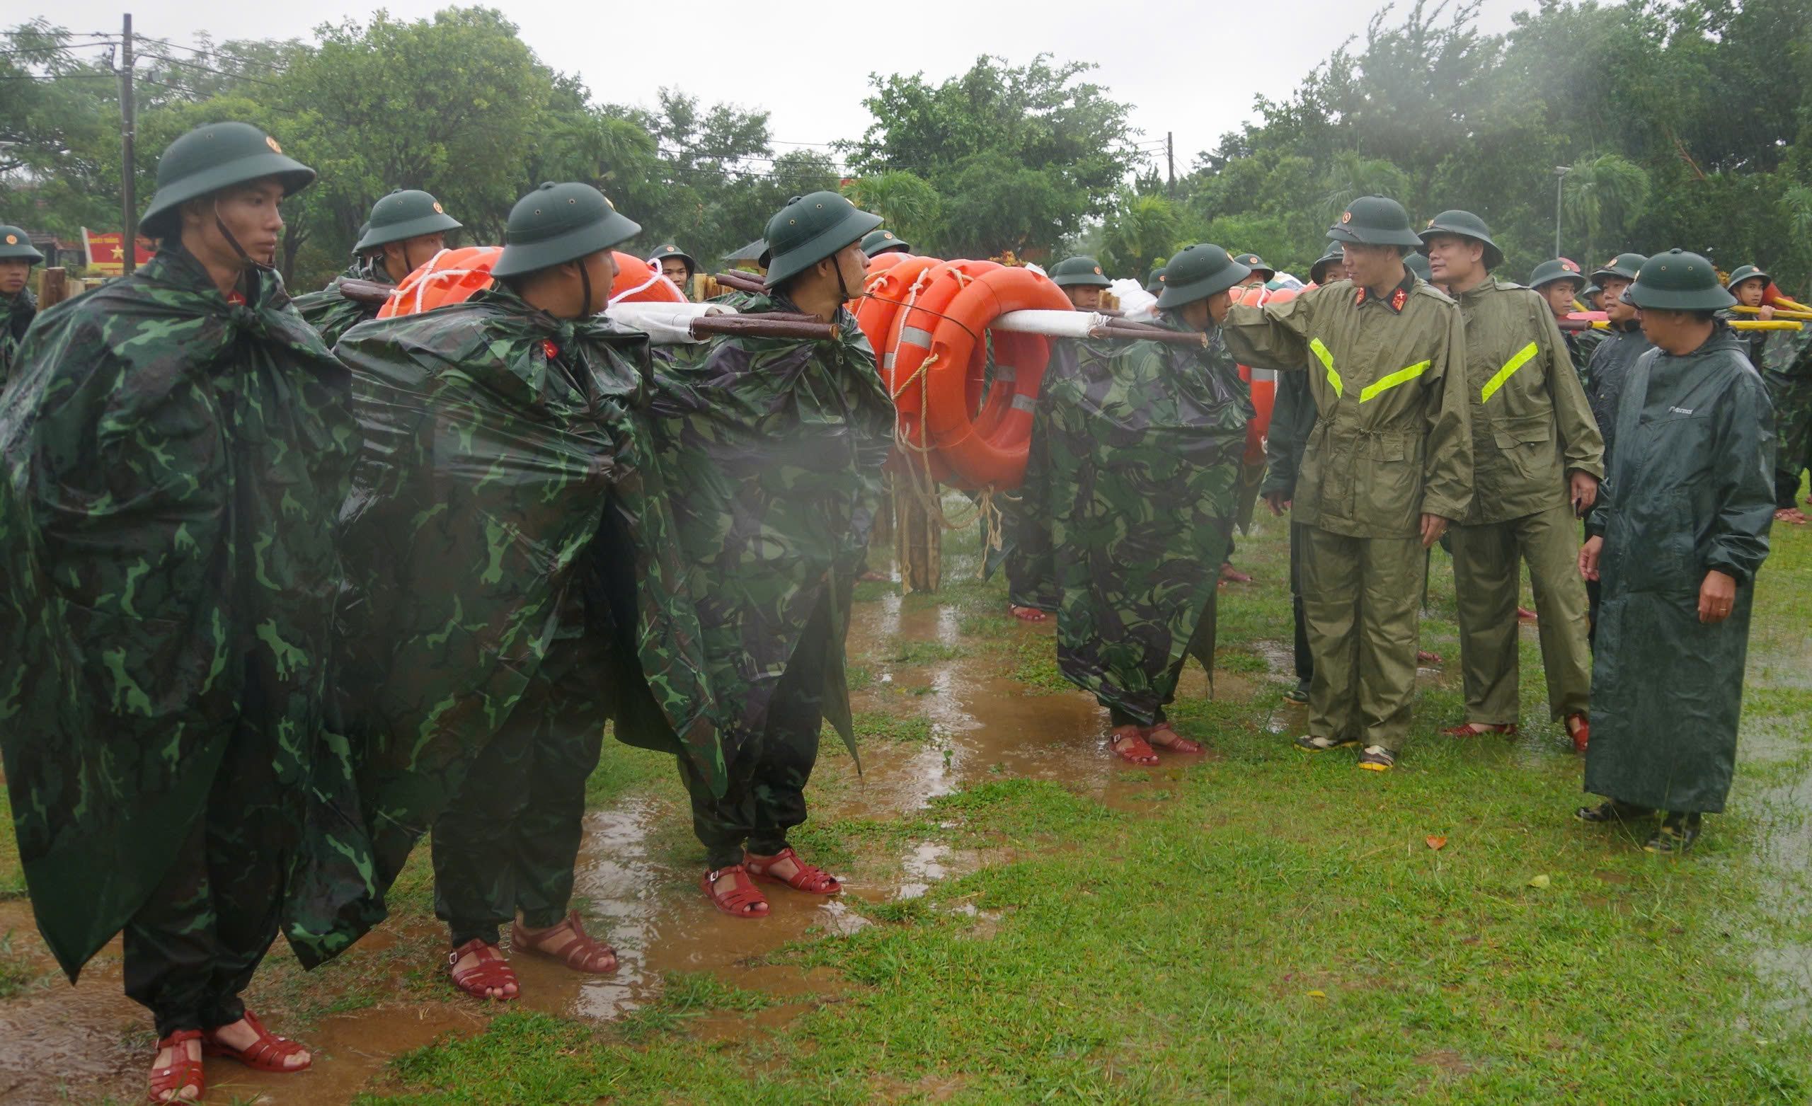
[[[978,4],[919,0],[879,5],[768,4],[495,4],[516,22],[544,62],[578,72],[596,100],[652,103],[661,85],[705,103],[727,100],[772,112],[772,136],[785,143],[857,138],[868,125],[863,96],[870,72],[922,71],[942,80],[977,54],[1022,63],[1040,51],[1058,60],[1094,62],[1096,81],[1132,105],[1145,139],[1176,134],[1176,168],[1254,116],[1254,94],[1287,96],[1334,47],[1363,34],[1383,0],[1341,4],[1205,4],[1122,0],[1084,4]],[[397,18],[420,18],[448,4],[397,0]],[[1535,0],[1484,0],[1482,29],[1509,27],[1513,11]],[[1399,4],[1399,11],[1401,11]],[[118,31],[132,11],[134,31],[194,42],[207,31],[226,38],[310,38],[323,22],[370,18],[373,5],[346,0],[292,4],[196,4],[194,0],[69,0],[14,5],[7,24],[42,11],[72,31]],[[839,11],[841,9],[841,11]],[[902,14],[910,11],[911,14]],[[824,13],[824,14],[817,14]],[[826,18],[828,16],[828,18]],[[815,24],[810,22],[815,18]],[[1161,150],[1160,150],[1161,154]],[[1161,159],[1158,161],[1163,168]]]

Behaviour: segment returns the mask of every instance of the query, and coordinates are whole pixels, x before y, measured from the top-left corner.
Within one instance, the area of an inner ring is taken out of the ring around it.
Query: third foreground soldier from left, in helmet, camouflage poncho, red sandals
[[[774,291],[736,304],[815,313],[837,324],[839,340],[718,338],[660,373],[661,462],[692,567],[728,789],[714,795],[687,758],[680,768],[707,849],[705,894],[739,918],[768,909],[750,876],[841,891],[786,833],[805,822],[826,717],[853,749],[843,643],[893,407],[843,304],[863,286],[859,243],[879,223],[835,192],[795,197],[768,223]]]

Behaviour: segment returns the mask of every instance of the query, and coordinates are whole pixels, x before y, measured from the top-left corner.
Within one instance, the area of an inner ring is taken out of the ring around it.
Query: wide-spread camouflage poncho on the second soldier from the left
[[[647,335],[562,322],[493,288],[355,328],[335,355],[364,434],[339,610],[361,811],[317,840],[306,930],[290,930],[304,961],[382,920],[382,892],[556,639],[609,643],[596,686],[620,740],[725,778],[636,413]]]

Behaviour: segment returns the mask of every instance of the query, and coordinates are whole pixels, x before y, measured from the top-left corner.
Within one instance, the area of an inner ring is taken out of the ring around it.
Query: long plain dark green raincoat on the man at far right
[[[1718,326],[1685,357],[1640,358],[1589,520],[1604,550],[1587,791],[1662,811],[1723,809],[1772,520],[1774,420],[1736,335]],[[1736,603],[1707,625],[1698,594],[1711,570],[1736,577]]]

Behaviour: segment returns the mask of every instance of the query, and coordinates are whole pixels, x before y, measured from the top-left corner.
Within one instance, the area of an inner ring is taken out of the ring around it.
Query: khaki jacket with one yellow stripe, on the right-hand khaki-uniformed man
[[[1562,507],[1571,471],[1604,480],[1604,438],[1547,302],[1522,284],[1486,277],[1459,304],[1473,434],[1473,501],[1460,521],[1500,523]]]

